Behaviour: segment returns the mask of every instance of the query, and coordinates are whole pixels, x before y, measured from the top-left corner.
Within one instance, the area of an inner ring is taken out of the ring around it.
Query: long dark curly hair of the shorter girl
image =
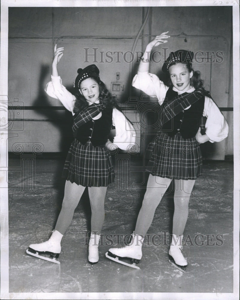
[[[97,77],[91,76],[99,86],[99,102],[105,104],[106,107],[117,107],[116,98],[110,93],[106,85]],[[86,99],[80,94],[79,90],[76,89],[76,101],[74,104],[73,112],[80,113],[85,107],[88,107],[89,104]]]

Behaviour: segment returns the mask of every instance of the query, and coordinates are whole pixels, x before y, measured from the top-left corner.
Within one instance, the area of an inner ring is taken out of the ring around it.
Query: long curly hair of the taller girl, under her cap
[[[209,91],[206,91],[205,88],[204,88],[204,85],[203,85],[204,81],[201,79],[201,73],[199,71],[194,71],[193,68],[192,68],[191,63],[180,63],[180,62],[176,63],[176,62],[173,62],[169,65],[168,70],[174,64],[185,64],[188,71],[189,71],[189,73],[193,72],[192,78],[190,78],[190,85],[194,86],[196,91],[200,91],[203,95],[208,96],[209,98],[212,98]],[[169,71],[168,71],[167,85],[170,88],[173,87]]]

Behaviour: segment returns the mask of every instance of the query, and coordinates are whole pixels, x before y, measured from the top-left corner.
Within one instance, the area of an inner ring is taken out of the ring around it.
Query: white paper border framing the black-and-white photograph
[[[8,95],[8,7],[125,7],[125,6],[232,6],[233,7],[233,116],[234,116],[234,232],[233,232],[233,293],[9,293],[8,274],[8,189],[7,189],[7,131],[1,132],[0,170],[6,175],[0,189],[1,225],[1,299],[239,299],[239,3],[237,1],[45,1],[3,0],[1,1],[1,53],[0,96],[6,101]],[[7,111],[0,111],[1,123],[7,120]]]

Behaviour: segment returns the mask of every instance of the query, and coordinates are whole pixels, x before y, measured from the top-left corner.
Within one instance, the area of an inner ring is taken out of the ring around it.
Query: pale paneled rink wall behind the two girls
[[[144,10],[146,12],[146,7]],[[61,106],[59,101],[44,92],[45,84],[50,80],[53,47],[57,42],[58,46],[64,46],[59,73],[70,91],[77,69],[95,63],[108,88],[111,88],[111,82],[117,81],[116,72],[120,73],[118,81],[123,91],[117,97],[124,107],[129,95],[139,95],[138,91],[130,88],[138,64],[136,58],[133,64],[129,63],[130,53],[125,59],[120,53],[117,59],[117,54],[113,52],[126,53],[132,50],[143,17],[142,7],[9,7],[10,102],[16,105],[19,101],[25,107]],[[166,46],[167,55],[176,49],[190,49],[194,52],[203,51],[206,60],[206,51],[223,52],[221,63],[210,64],[205,61],[194,65],[195,70],[201,71],[205,87],[211,91],[219,107],[233,107],[232,85],[229,84],[233,78],[230,69],[231,19],[231,7],[152,7],[146,24],[147,32],[151,35],[169,30],[172,38]],[[142,50],[142,38],[138,39],[134,50]],[[86,53],[93,54],[94,51],[95,56],[86,56]],[[107,51],[112,52],[108,52],[112,58],[107,58]],[[163,52],[159,58],[163,60]],[[161,66],[162,63],[152,62],[150,71],[164,80]],[[23,119],[22,113],[15,113],[14,117]],[[233,154],[233,112],[224,113],[224,116],[230,125],[230,135],[227,140],[211,145],[209,158],[224,159],[224,155]],[[44,152],[68,149],[71,142],[71,114],[64,110],[34,109],[25,110],[24,119],[24,122],[14,122],[16,131],[12,130],[11,133],[18,136],[9,139],[10,152],[17,141],[24,142],[27,152],[31,151],[32,142],[41,142]],[[24,130],[17,131],[22,126]]]

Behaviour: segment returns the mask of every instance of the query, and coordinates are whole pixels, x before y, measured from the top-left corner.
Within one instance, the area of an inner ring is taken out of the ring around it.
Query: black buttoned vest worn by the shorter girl
[[[101,118],[88,121],[75,131],[74,137],[81,144],[84,145],[90,140],[97,147],[107,142],[113,122],[113,108],[105,108],[101,113]]]

